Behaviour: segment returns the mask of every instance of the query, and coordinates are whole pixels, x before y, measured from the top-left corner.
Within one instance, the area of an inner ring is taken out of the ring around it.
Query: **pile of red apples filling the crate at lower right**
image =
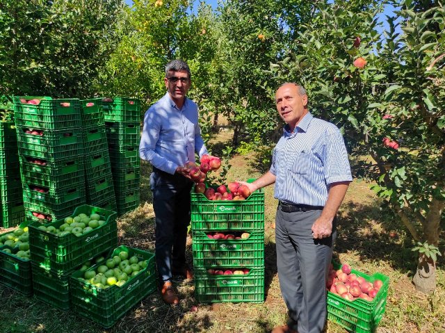
[[[367,282],[364,277],[360,277],[351,273],[351,268],[348,264],[343,264],[341,269],[334,270],[332,264],[330,273],[327,277],[326,287],[331,293],[340,295],[345,300],[353,301],[357,298],[362,298],[372,302],[377,295],[383,282],[376,279],[373,283]]]

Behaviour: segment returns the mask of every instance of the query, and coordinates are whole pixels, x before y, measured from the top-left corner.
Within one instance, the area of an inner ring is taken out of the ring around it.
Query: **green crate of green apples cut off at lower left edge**
[[[28,225],[0,234],[0,284],[27,296],[33,293]]]

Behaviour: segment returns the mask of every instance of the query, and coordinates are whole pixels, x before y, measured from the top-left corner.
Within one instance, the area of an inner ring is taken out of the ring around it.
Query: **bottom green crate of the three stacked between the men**
[[[207,268],[195,268],[195,299],[200,303],[264,302],[264,266],[250,268],[247,275],[210,275]]]

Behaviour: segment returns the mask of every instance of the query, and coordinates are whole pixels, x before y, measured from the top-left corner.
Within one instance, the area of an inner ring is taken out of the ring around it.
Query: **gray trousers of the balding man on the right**
[[[277,268],[280,289],[289,309],[289,327],[298,333],[320,333],[325,326],[326,279],[332,259],[332,245],[337,236],[314,240],[312,225],[320,210],[283,212],[275,218]]]

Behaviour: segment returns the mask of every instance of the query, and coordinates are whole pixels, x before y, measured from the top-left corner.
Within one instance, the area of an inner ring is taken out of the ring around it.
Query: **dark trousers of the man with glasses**
[[[156,225],[156,266],[161,282],[171,279],[172,268],[181,270],[186,265],[192,184],[180,174],[172,175],[156,168],[150,175]]]

